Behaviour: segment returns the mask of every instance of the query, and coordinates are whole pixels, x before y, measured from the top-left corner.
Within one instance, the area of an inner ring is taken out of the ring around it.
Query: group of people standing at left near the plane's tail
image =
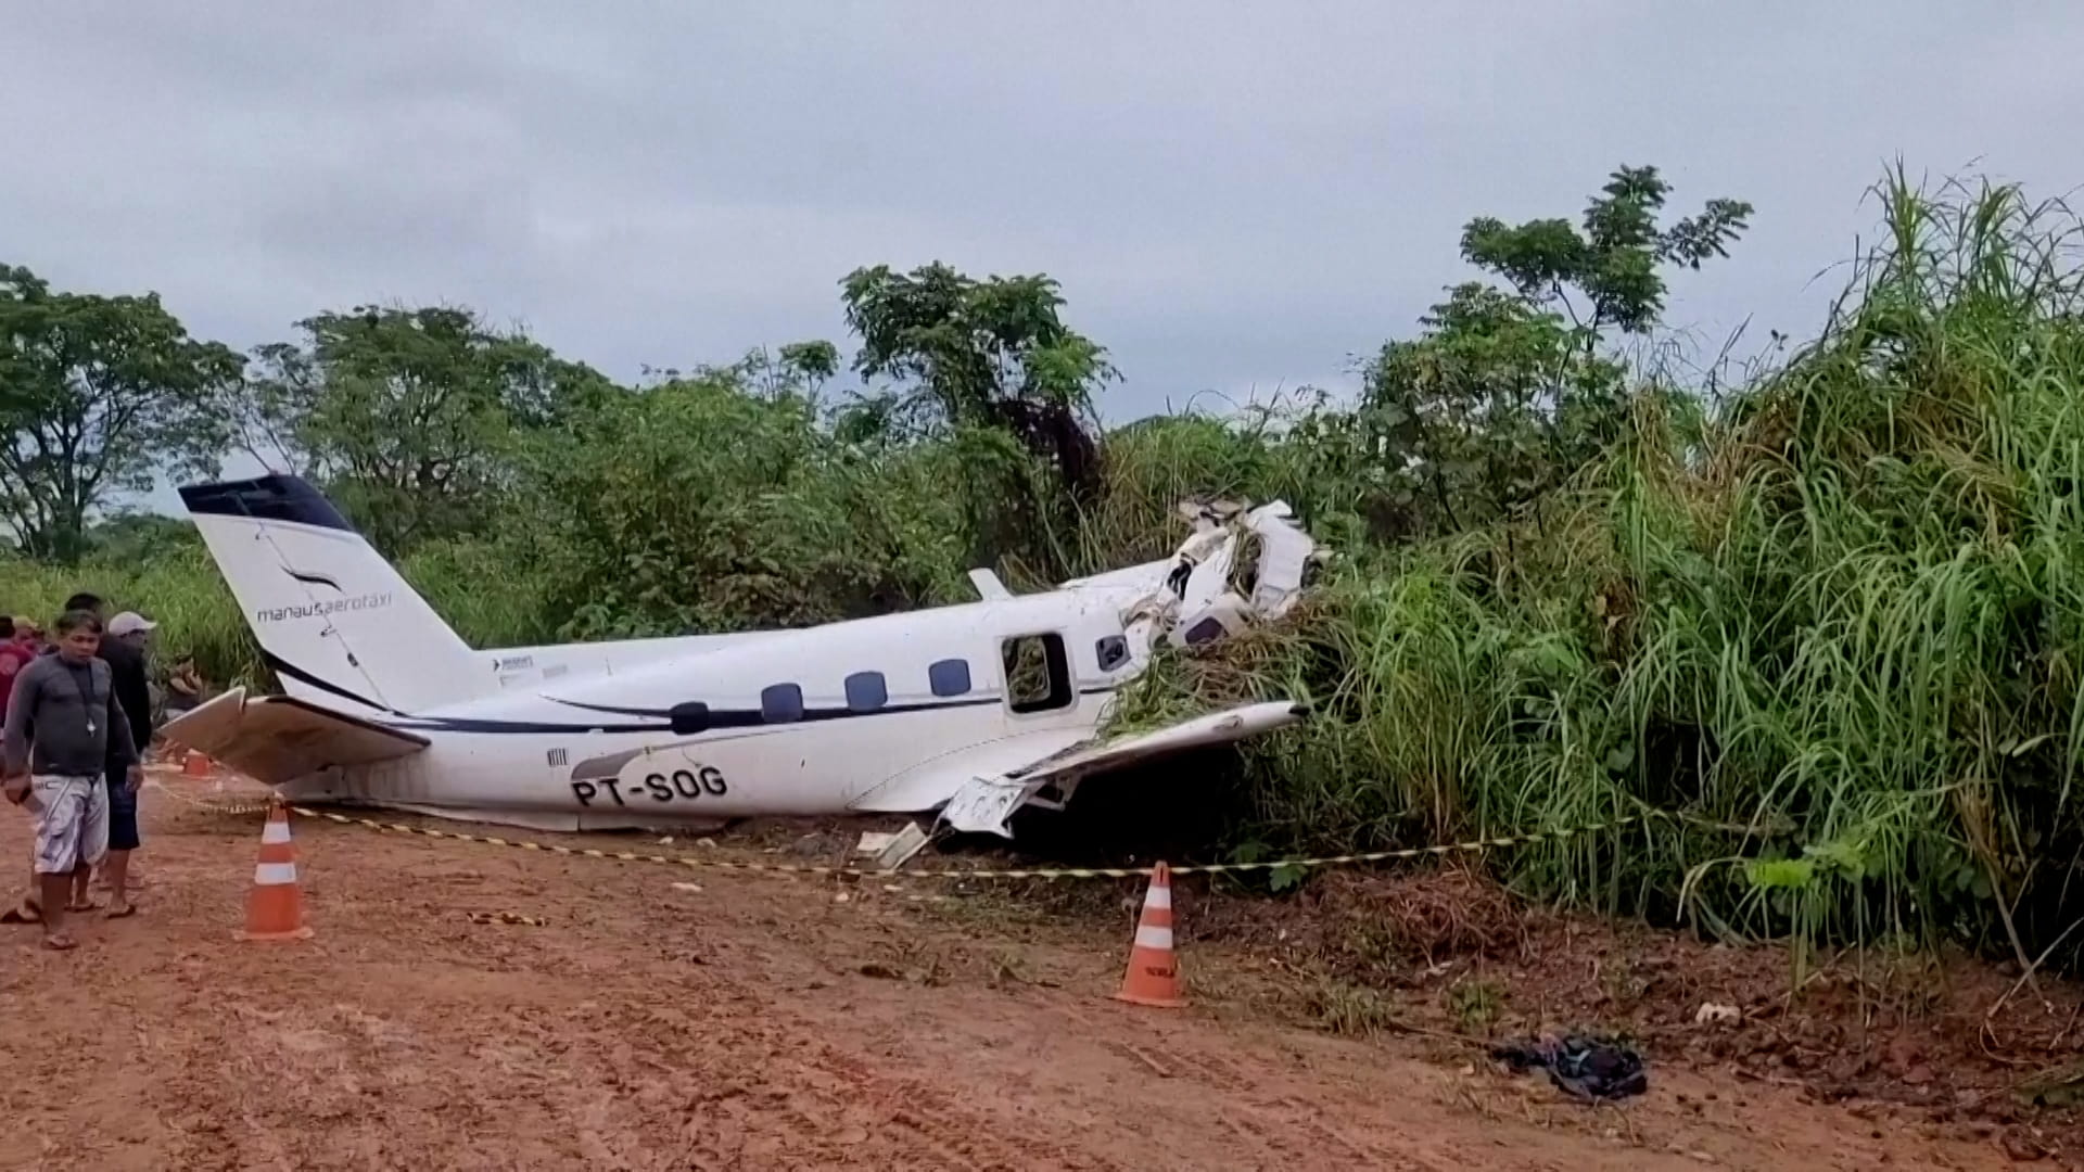
[[[73,949],[69,913],[96,911],[90,880],[110,893],[108,915],[133,915],[129,861],[138,792],[152,744],[146,667],[158,624],[135,611],[106,615],[96,594],[73,594],[44,638],[25,617],[0,615],[0,788],[35,820],[29,895],[0,920],[44,926],[44,947]],[[167,678],[167,707],[200,701],[194,663]]]

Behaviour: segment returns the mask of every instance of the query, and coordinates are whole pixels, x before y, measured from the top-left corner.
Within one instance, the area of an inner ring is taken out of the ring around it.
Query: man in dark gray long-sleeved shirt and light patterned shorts
[[[104,765],[121,763],[135,792],[144,784],[129,719],[117,703],[108,663],[94,657],[102,619],[69,611],[58,619],[58,651],[15,676],[6,709],[6,797],[35,813],[35,876],[44,888],[44,947],[77,945],[65,932],[73,872],[108,849]],[[33,728],[33,744],[31,744]]]

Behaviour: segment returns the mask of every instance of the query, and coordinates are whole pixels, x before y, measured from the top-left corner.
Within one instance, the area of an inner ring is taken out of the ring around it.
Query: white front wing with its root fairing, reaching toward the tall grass
[[[940,805],[940,822],[954,830],[1011,838],[1007,820],[1048,784],[1067,786],[1090,774],[1105,774],[1167,753],[1242,740],[1296,724],[1302,715],[1302,705],[1290,701],[1240,705],[1150,732],[1080,740],[1038,759],[1032,757],[1032,747],[986,742],[944,757],[927,772],[904,778],[898,786],[871,792],[857,803],[857,809],[913,811]]]

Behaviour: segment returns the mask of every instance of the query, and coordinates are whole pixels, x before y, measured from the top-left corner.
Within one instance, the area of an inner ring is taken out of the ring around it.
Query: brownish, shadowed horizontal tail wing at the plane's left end
[[[427,738],[306,705],[294,697],[246,697],[231,688],[167,722],[167,740],[281,784],[327,765],[369,765],[406,757]]]

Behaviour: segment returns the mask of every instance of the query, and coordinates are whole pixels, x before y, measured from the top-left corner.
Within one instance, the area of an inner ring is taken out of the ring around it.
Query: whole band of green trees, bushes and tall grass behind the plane
[[[23,555],[0,605],[42,615],[94,586],[215,680],[265,684],[192,532],[104,515],[142,475],[240,448],[325,484],[479,644],[952,601],[969,565],[1040,584],[1163,555],[1188,494],[1280,496],[1336,569],[1282,630],[1163,657],[1121,711],[1315,705],[1244,755],[1225,849],[1648,807],[1686,817],[1492,865],[1711,932],[2074,963],[2076,223],[2011,188],[1890,177],[1886,231],[1817,336],[1688,386],[1623,346],[1751,209],[1665,221],[1665,194],[1621,169],[1576,221],[1471,221],[1463,254],[1492,282],[1373,355],[1353,402],[1113,430],[1109,355],[1046,277],[852,273],[859,386],[838,394],[827,342],[625,388],[454,309],[325,313],[242,359],[156,302],[13,271]],[[60,478],[48,453],[108,471]]]

